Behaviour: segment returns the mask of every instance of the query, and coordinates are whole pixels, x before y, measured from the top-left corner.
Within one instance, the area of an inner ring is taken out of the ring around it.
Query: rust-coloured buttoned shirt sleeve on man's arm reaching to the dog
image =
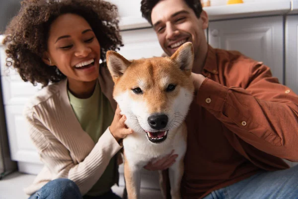
[[[245,142],[268,154],[298,161],[298,96],[262,63],[251,67],[246,88],[208,78],[196,102]]]

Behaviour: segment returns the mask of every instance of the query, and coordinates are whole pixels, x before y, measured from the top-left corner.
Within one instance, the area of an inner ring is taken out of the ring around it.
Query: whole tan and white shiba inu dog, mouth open
[[[113,97],[134,130],[123,140],[124,176],[129,199],[140,198],[140,170],[153,158],[178,154],[169,168],[172,199],[180,199],[186,151],[184,118],[193,99],[191,80],[194,52],[190,42],[171,57],[129,61],[107,52],[107,66],[115,83]]]

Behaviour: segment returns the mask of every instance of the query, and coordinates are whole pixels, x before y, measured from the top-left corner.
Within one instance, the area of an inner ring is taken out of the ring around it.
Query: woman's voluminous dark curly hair
[[[116,5],[103,0],[23,0],[18,14],[8,24],[3,40],[7,45],[6,66],[17,69],[23,81],[47,86],[66,78],[57,67],[42,61],[50,25],[65,13],[80,15],[89,23],[100,43],[103,62],[108,50],[123,46]]]

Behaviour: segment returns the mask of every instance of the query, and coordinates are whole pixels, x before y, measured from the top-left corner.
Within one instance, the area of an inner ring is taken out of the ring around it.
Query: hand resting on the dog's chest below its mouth
[[[149,170],[149,171],[157,171],[157,170],[165,170],[172,166],[172,164],[175,163],[176,158],[178,157],[177,154],[174,154],[174,150],[165,157],[159,159],[159,160],[152,160],[149,162],[144,168]]]

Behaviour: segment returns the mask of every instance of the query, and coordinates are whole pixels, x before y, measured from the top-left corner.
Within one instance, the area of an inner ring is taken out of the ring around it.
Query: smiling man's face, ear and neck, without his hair
[[[199,13],[198,13],[199,14]],[[208,45],[204,30],[208,27],[205,11],[196,13],[183,0],[167,0],[157,3],[152,9],[151,22],[160,46],[167,55],[172,55],[185,42],[193,43],[195,67],[200,72],[206,58]],[[194,25],[195,24],[195,25]]]

